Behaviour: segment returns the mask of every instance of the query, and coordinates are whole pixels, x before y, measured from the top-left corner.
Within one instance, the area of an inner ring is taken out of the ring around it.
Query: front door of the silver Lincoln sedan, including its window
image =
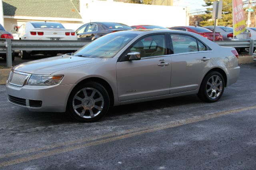
[[[166,55],[164,34],[138,40],[117,62],[119,101],[170,94],[171,57]],[[141,59],[128,61],[129,52],[140,52]]]

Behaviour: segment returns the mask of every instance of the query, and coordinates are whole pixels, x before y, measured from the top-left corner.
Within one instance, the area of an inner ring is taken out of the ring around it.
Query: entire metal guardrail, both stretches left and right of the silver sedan
[[[78,50],[90,41],[52,41],[52,40],[0,40],[0,51],[6,50],[7,67],[12,67],[12,51],[14,50]],[[254,52],[256,47],[254,40],[237,41],[216,41],[218,45],[224,47],[247,47],[249,55]]]

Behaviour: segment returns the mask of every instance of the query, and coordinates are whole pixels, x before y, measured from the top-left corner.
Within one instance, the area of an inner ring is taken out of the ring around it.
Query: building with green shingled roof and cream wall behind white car
[[[83,24],[79,0],[2,0],[2,4],[9,32],[29,21],[60,22],[73,30]]]

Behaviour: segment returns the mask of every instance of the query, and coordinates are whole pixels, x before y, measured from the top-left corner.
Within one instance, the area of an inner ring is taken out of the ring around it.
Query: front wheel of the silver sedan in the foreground
[[[84,95],[84,89],[87,97]],[[93,96],[91,96],[92,93],[94,93]],[[73,104],[78,108],[75,109]],[[106,115],[109,105],[110,99],[106,89],[100,83],[88,82],[80,84],[72,90],[68,99],[67,112],[77,121],[94,122]],[[82,115],[83,113],[84,115]]]

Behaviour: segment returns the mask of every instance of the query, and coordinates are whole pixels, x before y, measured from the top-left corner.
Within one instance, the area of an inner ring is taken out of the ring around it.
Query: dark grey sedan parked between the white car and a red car
[[[78,40],[93,41],[112,32],[132,30],[131,27],[116,22],[90,22],[76,30]]]

